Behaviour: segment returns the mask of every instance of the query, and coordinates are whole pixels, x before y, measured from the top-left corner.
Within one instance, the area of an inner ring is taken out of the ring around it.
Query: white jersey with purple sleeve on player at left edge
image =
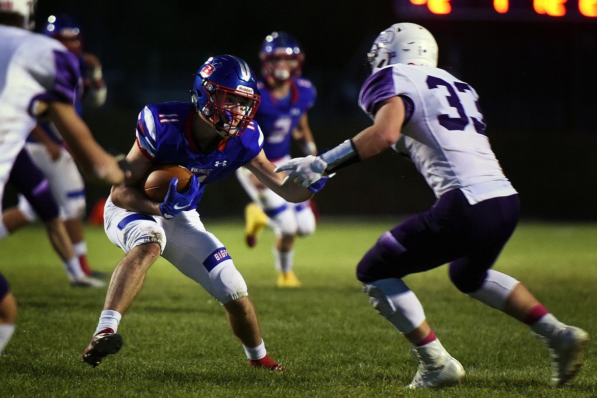
[[[0,26],[0,184],[39,116],[39,101],[73,104],[79,63],[60,42]]]

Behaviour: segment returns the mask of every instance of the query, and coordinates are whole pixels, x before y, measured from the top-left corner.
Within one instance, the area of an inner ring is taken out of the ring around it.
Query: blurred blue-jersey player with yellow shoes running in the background
[[[298,141],[304,155],[316,155],[307,111],[317,94],[313,84],[300,77],[304,54],[297,39],[286,32],[272,32],[263,40],[259,58],[263,80],[257,82],[261,103],[255,119],[263,131],[267,159],[275,165],[290,160],[293,139]],[[245,168],[239,168],[236,175],[253,200],[245,209],[247,245],[255,246],[259,233],[269,224],[276,236],[273,255],[279,272],[278,286],[300,286],[293,271],[293,247],[297,236],[315,231],[310,202],[288,202]]]

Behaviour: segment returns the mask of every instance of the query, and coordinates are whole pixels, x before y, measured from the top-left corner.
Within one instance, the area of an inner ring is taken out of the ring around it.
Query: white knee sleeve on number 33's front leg
[[[402,279],[376,280],[365,284],[363,291],[373,308],[402,334],[414,331],[425,320],[423,306]]]

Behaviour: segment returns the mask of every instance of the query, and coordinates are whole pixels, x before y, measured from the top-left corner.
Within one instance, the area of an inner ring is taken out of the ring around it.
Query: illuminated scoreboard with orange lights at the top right
[[[460,20],[597,22],[597,0],[395,0],[396,14]]]

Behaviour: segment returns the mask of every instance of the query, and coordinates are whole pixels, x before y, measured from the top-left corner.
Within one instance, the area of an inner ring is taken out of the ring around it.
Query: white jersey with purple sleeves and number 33
[[[373,119],[378,104],[396,95],[407,115],[393,149],[410,157],[436,198],[460,189],[475,204],[516,193],[491,150],[470,85],[443,69],[393,64],[369,76],[359,106]]]

